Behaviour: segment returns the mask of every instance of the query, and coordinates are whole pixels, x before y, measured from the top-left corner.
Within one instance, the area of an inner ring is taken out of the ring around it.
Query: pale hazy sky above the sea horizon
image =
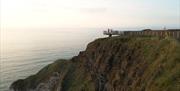
[[[1,0],[1,28],[180,27],[180,0]]]

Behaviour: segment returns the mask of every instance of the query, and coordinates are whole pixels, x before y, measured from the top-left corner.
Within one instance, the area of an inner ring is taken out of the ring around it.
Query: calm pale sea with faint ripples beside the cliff
[[[17,79],[37,73],[57,59],[70,59],[87,44],[104,37],[102,29],[1,30],[0,91],[8,91]]]

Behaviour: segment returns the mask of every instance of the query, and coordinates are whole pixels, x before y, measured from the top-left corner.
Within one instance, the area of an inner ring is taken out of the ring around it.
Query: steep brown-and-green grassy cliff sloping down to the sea
[[[180,91],[180,44],[156,37],[97,39],[11,85],[14,91]]]

